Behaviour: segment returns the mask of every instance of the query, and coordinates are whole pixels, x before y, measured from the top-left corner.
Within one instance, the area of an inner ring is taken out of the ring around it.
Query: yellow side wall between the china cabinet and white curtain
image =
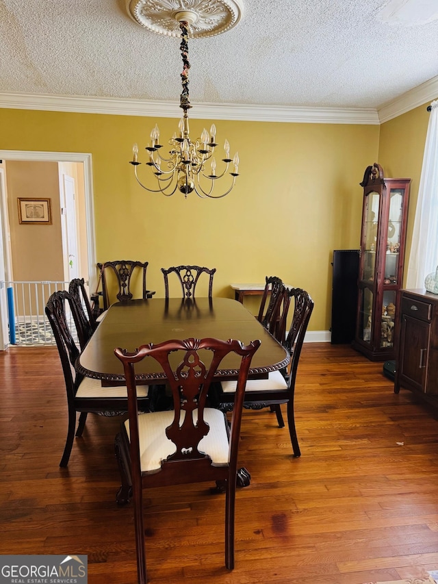
[[[413,220],[417,205],[418,187],[422,172],[424,144],[426,142],[429,112],[426,105],[416,107],[381,126],[378,157],[385,170],[385,177],[410,178],[407,246],[404,265],[407,266],[411,251]],[[404,269],[404,283],[407,269]]]

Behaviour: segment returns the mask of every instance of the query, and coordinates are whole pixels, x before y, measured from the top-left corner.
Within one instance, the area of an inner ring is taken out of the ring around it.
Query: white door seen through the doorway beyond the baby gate
[[[69,282],[79,278],[79,253],[77,244],[75,179],[62,175],[61,227],[64,256],[64,279]]]

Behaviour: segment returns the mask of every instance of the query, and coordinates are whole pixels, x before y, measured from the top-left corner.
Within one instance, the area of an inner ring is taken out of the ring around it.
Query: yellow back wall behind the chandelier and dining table
[[[162,142],[177,129],[178,118],[0,110],[0,149],[91,153],[97,260],[147,260],[157,296],[160,268],[178,264],[217,268],[219,296],[233,296],[229,283],[279,275],[313,296],[309,329],[329,330],[333,249],[359,247],[359,182],[377,160],[379,127],[218,120],[217,142],[239,151],[241,176],[210,201],[138,186],[132,144],[141,154],[155,121]],[[191,136],[211,121],[192,120]],[[257,312],[256,300],[247,305]]]

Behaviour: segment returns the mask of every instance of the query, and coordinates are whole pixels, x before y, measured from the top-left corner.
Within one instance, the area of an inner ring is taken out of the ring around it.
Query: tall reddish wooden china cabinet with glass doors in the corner
[[[375,162],[360,183],[363,211],[353,346],[372,361],[395,359],[410,182],[385,179]]]

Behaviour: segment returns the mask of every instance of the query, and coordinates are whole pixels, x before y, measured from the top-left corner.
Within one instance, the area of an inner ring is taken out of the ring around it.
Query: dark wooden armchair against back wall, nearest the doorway
[[[129,301],[134,298],[133,288],[141,278],[140,298],[152,298],[155,292],[146,288],[146,269],[149,262],[131,259],[117,259],[114,262],[96,264],[102,282],[103,309],[107,310],[115,301]]]

